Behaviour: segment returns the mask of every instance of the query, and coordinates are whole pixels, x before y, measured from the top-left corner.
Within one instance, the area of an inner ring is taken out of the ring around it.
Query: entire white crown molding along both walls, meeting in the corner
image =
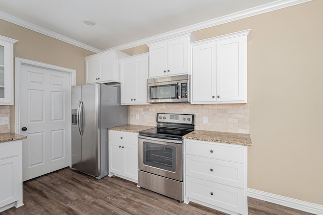
[[[209,27],[213,27],[213,26],[217,26],[217,25],[221,25],[224,23],[228,23],[228,22],[232,22],[232,21],[236,21],[236,20],[240,20],[240,19],[244,19],[247,17],[252,17],[255,15],[259,15],[259,14],[263,14],[263,13],[267,13],[267,12],[271,12],[271,11],[275,11],[275,10],[279,10],[282,8],[287,8],[290,6],[294,6],[294,5],[298,5],[301,3],[305,3],[305,2],[310,2],[312,0],[279,0],[273,3],[268,3],[266,5],[262,5],[262,6],[258,6],[258,7],[254,7],[254,8],[250,8],[244,11],[240,11],[237,13],[233,13],[227,16],[223,16],[223,17],[219,17],[216,19],[212,19],[212,20],[208,20],[205,22],[201,22],[201,23],[197,23],[194,25],[190,25],[184,28],[180,28],[174,31],[169,31],[163,34],[158,34],[152,37],[147,37],[141,40],[137,40],[134,42],[130,42],[127,44],[123,44],[123,45],[119,45],[119,46],[115,46],[113,48],[109,48],[106,50],[100,50],[97,48],[94,48],[92,46],[86,45],[84,43],[81,43],[79,41],[76,41],[74,39],[71,39],[69,37],[63,36],[61,34],[55,33],[53,31],[50,31],[48,29],[42,28],[40,26],[34,25],[30,22],[24,21],[22,19],[19,19],[17,17],[14,17],[12,15],[6,14],[2,11],[0,11],[0,19],[6,20],[8,22],[14,23],[16,25],[22,26],[24,28],[28,28],[30,30],[36,31],[38,33],[47,35],[49,37],[70,43],[72,45],[78,46],[80,48],[84,48],[86,50],[98,53],[101,51],[107,51],[107,50],[111,50],[111,49],[116,49],[116,50],[124,50],[124,49],[128,49],[128,48],[133,48],[139,45],[144,45],[147,43],[152,43],[158,40],[162,40],[162,39],[167,39],[169,37],[174,37],[174,36],[180,36],[182,34],[185,33],[190,33],[190,32],[194,32],[194,31],[198,31],[204,28],[209,28]]]

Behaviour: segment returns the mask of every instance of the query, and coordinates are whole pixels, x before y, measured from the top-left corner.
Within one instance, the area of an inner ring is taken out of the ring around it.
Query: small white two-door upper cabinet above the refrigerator
[[[126,56],[129,55],[118,50],[109,50],[85,57],[85,83],[120,82],[119,59]]]

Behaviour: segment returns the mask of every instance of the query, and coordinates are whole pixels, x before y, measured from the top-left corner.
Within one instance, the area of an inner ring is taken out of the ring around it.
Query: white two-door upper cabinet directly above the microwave
[[[148,44],[149,78],[190,73],[190,41],[192,33]]]

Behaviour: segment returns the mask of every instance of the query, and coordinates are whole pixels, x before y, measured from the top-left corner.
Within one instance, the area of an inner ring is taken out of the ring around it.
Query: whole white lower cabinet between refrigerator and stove
[[[109,130],[109,176],[138,182],[138,133]]]

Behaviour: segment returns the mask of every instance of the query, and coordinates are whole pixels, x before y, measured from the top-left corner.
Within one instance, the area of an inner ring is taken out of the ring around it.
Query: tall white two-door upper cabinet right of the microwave
[[[192,104],[247,103],[247,34],[191,43]]]

